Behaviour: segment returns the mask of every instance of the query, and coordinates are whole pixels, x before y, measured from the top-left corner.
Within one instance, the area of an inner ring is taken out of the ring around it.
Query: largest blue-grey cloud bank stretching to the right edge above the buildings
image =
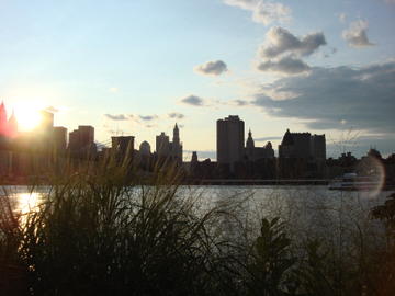
[[[278,92],[294,96],[275,100]],[[358,69],[312,68],[307,78],[286,77],[262,87],[251,104],[272,116],[303,119],[313,129],[394,134],[394,93],[395,61],[387,61]]]

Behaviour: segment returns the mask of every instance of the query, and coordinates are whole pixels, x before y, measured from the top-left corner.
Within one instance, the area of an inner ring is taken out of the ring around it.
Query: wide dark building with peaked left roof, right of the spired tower
[[[279,146],[280,158],[326,159],[325,135],[311,133],[291,133],[286,129]]]

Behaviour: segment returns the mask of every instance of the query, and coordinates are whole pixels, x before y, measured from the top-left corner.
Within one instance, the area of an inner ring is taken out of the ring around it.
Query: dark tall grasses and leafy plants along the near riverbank
[[[181,177],[170,164],[158,166],[150,185],[142,185],[128,161],[87,163],[58,163],[63,178],[52,180],[42,203],[25,215],[13,210],[12,193],[2,192],[0,295],[395,291],[394,194],[372,210],[384,221],[386,244],[371,243],[361,225],[353,231],[358,239],[349,236],[347,243],[331,240],[338,234],[296,241],[293,221],[283,217],[262,217],[253,231],[255,221],[236,215],[235,202],[202,207],[199,196],[180,193]]]

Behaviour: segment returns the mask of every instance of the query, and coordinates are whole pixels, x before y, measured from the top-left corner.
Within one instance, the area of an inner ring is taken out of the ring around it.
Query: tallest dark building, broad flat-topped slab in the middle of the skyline
[[[229,115],[217,121],[217,161],[230,167],[242,160],[245,141],[244,121]]]

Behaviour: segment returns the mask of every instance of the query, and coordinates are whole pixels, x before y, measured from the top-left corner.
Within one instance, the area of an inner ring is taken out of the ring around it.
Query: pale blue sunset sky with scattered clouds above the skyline
[[[325,134],[328,157],[386,156],[394,31],[394,0],[0,0],[0,99],[102,144],[155,149],[177,122],[185,158],[215,159],[228,115],[256,146],[290,128]]]

